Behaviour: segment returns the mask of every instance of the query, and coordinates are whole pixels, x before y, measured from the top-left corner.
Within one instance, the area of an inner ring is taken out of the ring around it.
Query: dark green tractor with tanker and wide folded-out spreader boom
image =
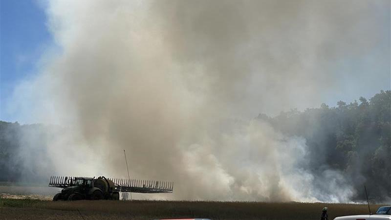
[[[63,188],[53,197],[57,200],[119,200],[119,192],[172,193],[173,182],[109,179],[105,177],[52,176],[49,186]]]

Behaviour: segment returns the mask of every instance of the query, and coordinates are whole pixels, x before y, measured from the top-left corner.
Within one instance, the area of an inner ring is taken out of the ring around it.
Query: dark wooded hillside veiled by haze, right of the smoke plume
[[[339,170],[364,198],[364,184],[373,199],[391,198],[391,91],[381,91],[369,100],[336,107],[322,104],[304,112],[292,110],[275,118],[264,114],[287,135],[304,137],[312,174],[322,180],[323,171]]]

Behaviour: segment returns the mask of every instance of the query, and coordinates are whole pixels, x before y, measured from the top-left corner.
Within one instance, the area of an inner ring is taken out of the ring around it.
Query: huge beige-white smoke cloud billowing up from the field
[[[61,51],[47,51],[10,108],[66,127],[47,140],[58,173],[126,176],[126,149],[132,177],[175,182],[158,198],[356,193],[337,170],[314,178],[303,137],[251,119],[389,89],[390,1],[53,0],[45,10]]]

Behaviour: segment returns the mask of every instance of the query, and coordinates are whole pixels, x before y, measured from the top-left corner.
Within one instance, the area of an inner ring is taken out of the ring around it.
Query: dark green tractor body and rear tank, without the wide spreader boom
[[[119,192],[114,183],[105,177],[86,178],[75,177],[68,181],[69,186],[53,197],[57,200],[119,200]],[[65,180],[66,182],[67,180]]]

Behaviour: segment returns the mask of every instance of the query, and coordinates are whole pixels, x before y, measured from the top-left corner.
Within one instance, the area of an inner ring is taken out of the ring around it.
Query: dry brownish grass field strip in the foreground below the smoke
[[[324,206],[329,219],[368,213],[367,205],[216,201],[40,201],[0,199],[0,219],[152,220],[209,218],[212,220],[317,220]],[[380,205],[372,205],[376,210]]]

